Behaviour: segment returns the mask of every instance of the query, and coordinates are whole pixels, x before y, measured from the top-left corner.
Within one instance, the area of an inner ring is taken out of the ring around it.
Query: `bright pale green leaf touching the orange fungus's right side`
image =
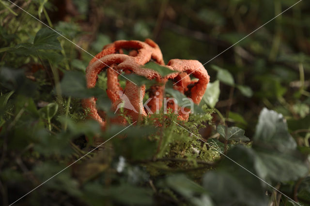
[[[208,87],[203,94],[202,102],[200,103],[200,105],[203,105],[205,103],[211,108],[214,108],[218,102],[219,93],[219,80],[216,80],[212,83],[209,82]]]

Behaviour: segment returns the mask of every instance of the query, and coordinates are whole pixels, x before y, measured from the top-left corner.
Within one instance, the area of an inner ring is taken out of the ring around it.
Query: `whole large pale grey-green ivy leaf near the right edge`
[[[270,147],[273,149],[268,149]],[[253,149],[257,153],[255,167],[259,175],[276,181],[305,176],[309,168],[296,147],[283,116],[263,108],[253,138]]]

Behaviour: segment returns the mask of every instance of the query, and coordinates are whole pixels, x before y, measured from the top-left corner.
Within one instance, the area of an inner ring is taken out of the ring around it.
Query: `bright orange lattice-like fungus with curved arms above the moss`
[[[124,54],[124,50],[128,54]],[[149,61],[163,65],[174,73],[167,76],[161,76],[154,70],[141,67]],[[191,98],[193,103],[199,104],[209,82],[209,75],[202,64],[197,60],[171,59],[167,65],[164,60],[159,46],[150,39],[145,42],[120,40],[103,47],[89,63],[86,69],[87,87],[93,88],[96,84],[98,74],[105,71],[107,74],[107,95],[112,103],[112,110],[115,112],[122,104],[126,115],[136,121],[148,113],[158,112],[163,106],[165,83],[171,79],[176,82],[174,89]],[[126,81],[125,88],[119,84],[119,75],[134,73],[144,76],[149,80],[155,79],[157,84],[148,89],[150,101],[143,106],[143,97],[145,95],[145,86],[137,86],[134,82]],[[191,80],[189,74],[193,74],[198,80]],[[98,112],[96,108],[95,97],[84,99],[83,107],[90,109],[89,116],[99,121],[102,127],[105,127],[106,117],[104,113]],[[126,105],[128,104],[128,105]],[[168,108],[177,110],[179,118],[188,119],[188,114],[182,114],[180,107],[174,102],[169,102]],[[125,123],[122,117],[114,118],[113,121]]]

